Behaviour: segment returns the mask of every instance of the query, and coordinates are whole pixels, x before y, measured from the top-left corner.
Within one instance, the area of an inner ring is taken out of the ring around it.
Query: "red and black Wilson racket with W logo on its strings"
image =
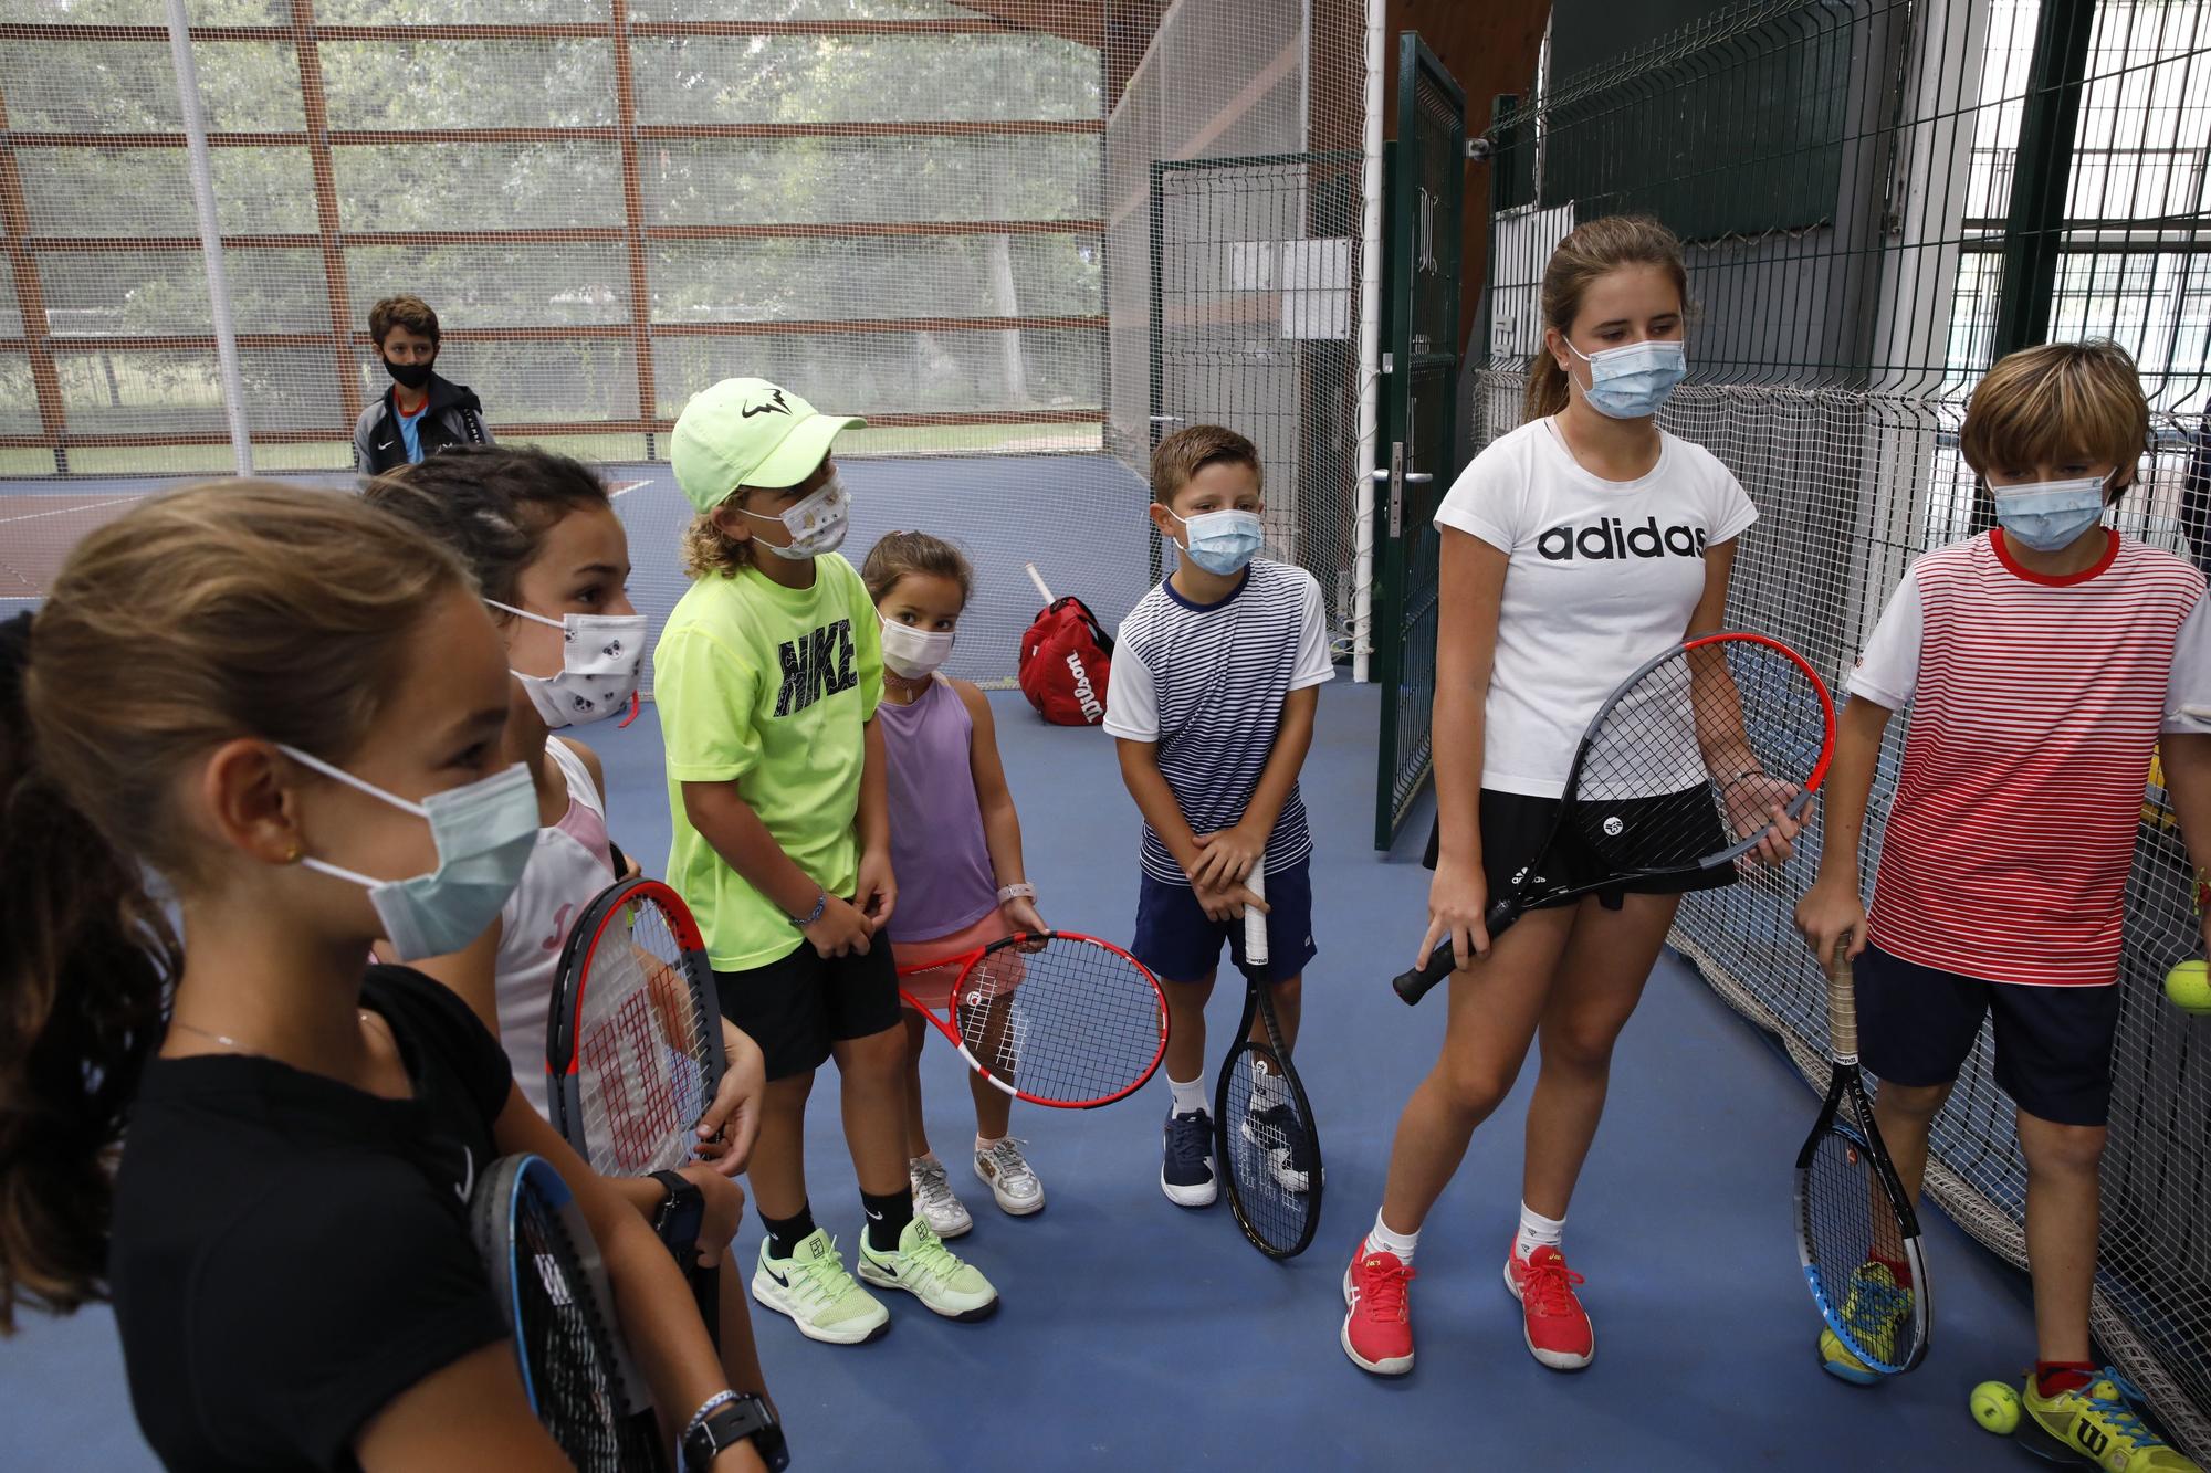
[[[721,1011],[699,922],[659,880],[617,880],[584,907],[553,980],[553,1128],[601,1177],[677,1170],[692,1159],[721,1070]],[[690,1241],[668,1252],[719,1338],[714,1272],[699,1267],[696,1223],[683,1228]]]

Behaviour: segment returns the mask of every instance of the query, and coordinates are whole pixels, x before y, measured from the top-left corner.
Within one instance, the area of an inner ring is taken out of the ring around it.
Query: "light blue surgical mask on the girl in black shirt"
[[[409,803],[298,748],[276,750],[429,823],[438,840],[438,867],[409,880],[374,880],[327,860],[301,860],[316,874],[367,889],[369,905],[385,924],[385,940],[402,962],[447,955],[482,936],[500,916],[506,896],[515,894],[522,869],[537,849],[537,787],[522,763]]]

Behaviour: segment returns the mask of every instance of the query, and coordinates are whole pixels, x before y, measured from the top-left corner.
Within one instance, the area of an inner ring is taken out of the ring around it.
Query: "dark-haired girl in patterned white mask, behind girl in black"
[[[500,920],[467,951],[418,962],[484,1020],[515,1084],[546,1110],[546,1011],[568,927],[615,882],[606,779],[590,748],[555,728],[632,708],[646,619],[630,606],[630,544],[606,482],[566,456],[462,447],[374,480],[367,500],[444,542],[475,575],[506,641],[513,699],[506,761],[537,785],[537,847]],[[723,1256],[745,1210],[734,1177],[758,1132],[758,1046],[723,1024],[727,1073],[701,1121],[699,1159],[679,1174],[705,1199],[701,1261]],[[668,1190],[652,1177],[610,1183],[648,1219]],[[721,1354],[730,1385],[761,1389],[743,1281],[721,1274]]]

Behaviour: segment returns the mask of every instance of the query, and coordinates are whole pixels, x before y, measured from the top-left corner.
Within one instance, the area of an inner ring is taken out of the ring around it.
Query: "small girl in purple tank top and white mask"
[[[1021,818],[997,759],[991,703],[971,681],[937,675],[973,588],[966,557],[926,533],[889,533],[860,568],[882,617],[882,728],[891,796],[891,955],[900,971],[957,958],[1015,931],[1044,931],[1021,869]],[[902,975],[922,1004],[944,1009],[957,967]],[[922,1046],[929,1022],[907,1009],[907,1174],[913,1208],[940,1239],[975,1221],[953,1192],[922,1126]],[[1013,1099],[968,1073],[975,1097],[975,1174],[997,1205],[1028,1216],[1044,1183],[1008,1135]]]

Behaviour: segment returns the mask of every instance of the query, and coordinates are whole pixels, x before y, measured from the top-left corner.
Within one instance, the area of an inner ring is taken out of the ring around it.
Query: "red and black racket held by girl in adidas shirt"
[[[1826,683],[1778,639],[1700,635],[1645,661],[1596,710],[1537,858],[1490,902],[1497,940],[1557,900],[1733,865],[1800,818],[1835,754]],[[1419,1002],[1453,971],[1450,938],[1395,980]]]

